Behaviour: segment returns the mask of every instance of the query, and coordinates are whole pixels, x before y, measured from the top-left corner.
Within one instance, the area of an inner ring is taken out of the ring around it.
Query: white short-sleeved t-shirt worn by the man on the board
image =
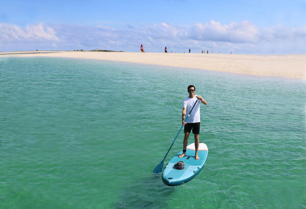
[[[199,100],[195,95],[194,98],[190,98],[187,96],[183,101],[183,108],[186,108],[186,116],[188,116],[189,112],[191,111],[192,107],[194,106],[195,102],[198,100],[197,105],[192,110],[189,118],[187,119],[186,123],[198,123],[200,122],[200,105],[201,100]]]

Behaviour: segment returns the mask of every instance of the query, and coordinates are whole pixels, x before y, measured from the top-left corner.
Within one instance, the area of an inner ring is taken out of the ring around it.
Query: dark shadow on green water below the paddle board
[[[163,184],[160,174],[152,173],[125,185],[113,208],[164,208],[175,190]]]

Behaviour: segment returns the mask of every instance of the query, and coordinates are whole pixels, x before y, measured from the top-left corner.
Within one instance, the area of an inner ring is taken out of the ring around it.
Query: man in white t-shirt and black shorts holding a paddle
[[[179,158],[182,158],[186,155],[186,147],[188,143],[188,138],[191,133],[195,136],[195,147],[196,147],[196,155],[195,159],[199,160],[198,156],[198,149],[199,149],[199,134],[200,134],[200,105],[203,103],[204,105],[207,105],[207,101],[203,99],[200,95],[195,95],[196,87],[194,85],[190,85],[188,88],[189,96],[187,96],[183,101],[183,112],[182,112],[182,125],[184,126],[184,142],[183,142],[183,153],[179,155]],[[200,100],[200,102],[197,102],[196,106],[194,107],[193,111],[190,114],[190,117],[185,122],[185,116],[186,112],[189,113],[194,105],[194,103],[197,101],[197,99]]]

